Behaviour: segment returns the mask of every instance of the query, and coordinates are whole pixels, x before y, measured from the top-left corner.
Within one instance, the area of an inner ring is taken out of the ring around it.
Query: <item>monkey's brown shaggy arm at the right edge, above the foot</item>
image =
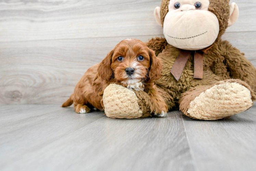
[[[232,47],[228,41],[223,41],[223,52],[230,76],[245,81],[256,92],[256,69],[244,57],[244,53]]]

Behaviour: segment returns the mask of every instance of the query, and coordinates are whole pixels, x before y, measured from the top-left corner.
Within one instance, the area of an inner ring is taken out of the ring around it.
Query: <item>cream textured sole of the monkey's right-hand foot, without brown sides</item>
[[[236,82],[220,82],[190,102],[188,113],[193,118],[217,120],[252,107],[251,91]]]

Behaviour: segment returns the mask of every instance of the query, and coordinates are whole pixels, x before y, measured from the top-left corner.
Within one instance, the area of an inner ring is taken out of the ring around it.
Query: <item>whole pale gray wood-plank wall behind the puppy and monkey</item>
[[[256,66],[256,0],[224,40]],[[0,104],[59,104],[121,40],[163,36],[161,0],[0,0]]]

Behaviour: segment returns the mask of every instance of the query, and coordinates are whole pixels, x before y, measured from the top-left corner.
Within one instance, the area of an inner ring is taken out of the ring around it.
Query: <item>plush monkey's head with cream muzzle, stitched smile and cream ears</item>
[[[220,39],[236,22],[239,10],[235,3],[229,5],[229,0],[162,0],[154,14],[169,44],[200,50]]]

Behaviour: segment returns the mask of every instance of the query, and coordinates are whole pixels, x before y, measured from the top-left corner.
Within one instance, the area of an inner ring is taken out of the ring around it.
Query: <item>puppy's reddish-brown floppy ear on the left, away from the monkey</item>
[[[102,80],[110,80],[113,75],[113,70],[111,69],[110,65],[112,62],[114,50],[109,52],[105,59],[100,63],[98,67],[98,75]]]

